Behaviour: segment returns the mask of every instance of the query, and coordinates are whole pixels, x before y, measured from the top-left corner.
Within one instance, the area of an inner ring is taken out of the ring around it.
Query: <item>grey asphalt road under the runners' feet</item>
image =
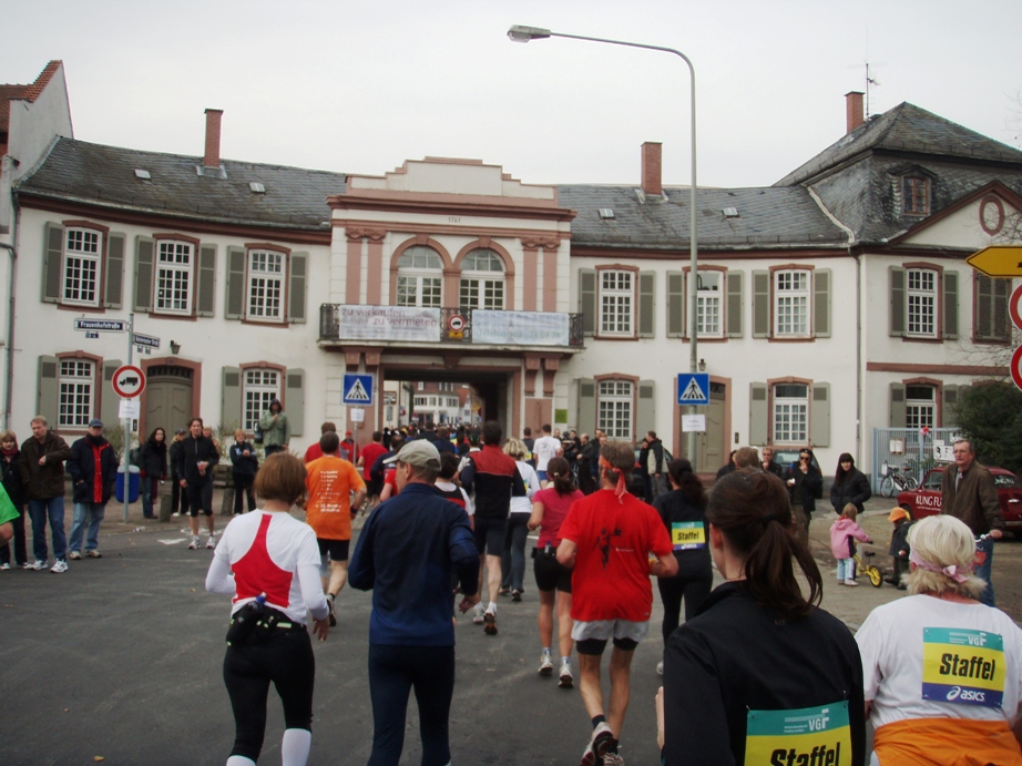
[[[889,501],[871,501],[863,527],[886,551]],[[219,507],[218,503],[216,507]],[[203,588],[211,551],[190,551],[181,520],[143,522],[120,508],[104,522],[104,558],[70,562],[67,574],[0,572],[0,764],[217,764],[226,760],[234,722],[221,666],[228,600]],[[69,507],[70,522],[70,507]],[[889,585],[837,586],[828,561],[832,517],[811,528],[824,572],[824,607],[852,629],[869,611],[903,595]],[[217,519],[222,523],[223,519]],[[999,601],[1019,619],[1022,543],[998,545]],[[880,561],[882,556],[878,556]],[[881,562],[882,563],[882,562]],[[372,715],[366,676],[370,594],[345,589],[339,625],[316,644],[311,764],[368,759]],[[500,633],[468,617],[457,625],[451,715],[456,764],[576,764],[589,719],[578,690],[536,675],[536,594],[531,572],[522,603],[501,600]],[[635,653],[632,704],[622,738],[630,766],[657,764],[653,697],[660,685],[661,607]],[[750,642],[750,646],[752,646]],[[574,666],[578,675],[578,665]],[[418,764],[415,701],[402,764]],[[691,722],[698,725],[698,722]],[[280,706],[269,697],[260,763],[279,763]]]

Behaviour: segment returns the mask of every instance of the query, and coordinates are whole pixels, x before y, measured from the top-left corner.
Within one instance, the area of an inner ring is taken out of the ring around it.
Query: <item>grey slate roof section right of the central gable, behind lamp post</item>
[[[687,248],[691,191],[664,190],[666,201],[640,201],[634,186],[565,185],[558,203],[578,216],[571,224],[572,245],[599,247]],[[701,249],[836,246],[848,242],[845,232],[800,186],[786,188],[698,188]],[[737,217],[724,208],[734,207]],[[602,218],[600,211],[613,211]]]

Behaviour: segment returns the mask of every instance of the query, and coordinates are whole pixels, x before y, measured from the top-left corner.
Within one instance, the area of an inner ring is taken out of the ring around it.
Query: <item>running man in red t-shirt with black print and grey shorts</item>
[[[628,494],[635,464],[632,447],[607,442],[600,449],[600,491],[572,504],[561,524],[558,561],[573,568],[571,637],[579,653],[579,691],[593,724],[582,766],[622,766],[617,741],[628,707],[632,655],[650,630],[650,575],[673,576],[677,561],[660,514]],[[600,664],[613,640],[611,698],[604,714]]]

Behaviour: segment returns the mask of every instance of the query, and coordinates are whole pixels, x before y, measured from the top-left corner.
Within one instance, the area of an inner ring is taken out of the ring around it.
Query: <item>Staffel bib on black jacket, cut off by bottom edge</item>
[[[848,701],[799,711],[749,711],[745,766],[850,766]]]

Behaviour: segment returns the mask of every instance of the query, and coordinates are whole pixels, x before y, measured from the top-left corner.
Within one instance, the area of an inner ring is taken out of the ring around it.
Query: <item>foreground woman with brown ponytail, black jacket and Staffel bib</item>
[[[863,763],[859,651],[819,607],[822,579],[796,537],[784,484],[734,471],[714,487],[706,519],[726,582],[664,651],[664,763]]]

